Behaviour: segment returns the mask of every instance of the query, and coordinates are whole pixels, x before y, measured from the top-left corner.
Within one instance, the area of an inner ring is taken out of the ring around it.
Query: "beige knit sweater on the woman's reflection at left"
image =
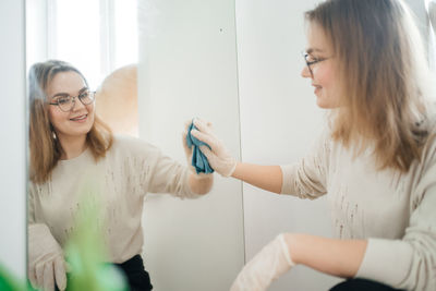
[[[141,227],[146,193],[171,193],[181,198],[198,197],[187,183],[186,166],[164,156],[158,148],[137,138],[114,138],[106,157],[95,162],[90,150],[60,160],[51,179],[31,183],[29,223],[45,223],[63,247],[74,230],[83,196],[99,202],[98,218],[109,262],[123,263],[143,246]]]

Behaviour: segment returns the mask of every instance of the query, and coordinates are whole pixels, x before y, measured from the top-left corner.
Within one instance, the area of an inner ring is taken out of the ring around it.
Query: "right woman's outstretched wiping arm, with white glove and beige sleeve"
[[[314,145],[314,151],[300,163],[289,166],[261,166],[238,162],[223,143],[214,134],[210,125],[195,119],[197,130],[191,134],[208,146],[201,146],[210,167],[223,177],[233,177],[254,186],[275,192],[316,198],[324,195],[328,166],[328,133]]]

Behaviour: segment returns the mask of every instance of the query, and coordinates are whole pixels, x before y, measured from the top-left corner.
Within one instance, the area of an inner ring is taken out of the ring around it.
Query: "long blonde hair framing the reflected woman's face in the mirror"
[[[29,175],[34,183],[44,183],[50,178],[63,151],[49,120],[45,94],[47,86],[60,72],[75,72],[82,76],[87,85],[83,74],[63,61],[50,60],[35,63],[29,71]],[[113,136],[110,129],[96,116],[94,124],[86,135],[86,143],[96,160],[106,155],[106,151],[112,145],[112,141]]]

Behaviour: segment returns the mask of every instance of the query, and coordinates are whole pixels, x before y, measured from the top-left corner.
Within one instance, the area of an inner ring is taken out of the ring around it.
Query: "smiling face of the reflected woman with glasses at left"
[[[55,75],[46,88],[49,102],[56,102],[59,97],[78,96],[87,90],[85,81],[76,72],[61,72]],[[94,102],[83,105],[74,99],[73,108],[64,112],[57,105],[49,105],[48,113],[58,138],[84,137],[94,124]]]

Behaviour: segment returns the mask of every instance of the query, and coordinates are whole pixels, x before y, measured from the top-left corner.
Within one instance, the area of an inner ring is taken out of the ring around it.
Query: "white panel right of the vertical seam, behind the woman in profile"
[[[310,81],[303,13],[319,1],[237,1],[242,159],[287,165],[303,157],[323,126]],[[330,237],[327,199],[300,201],[244,184],[246,259],[281,232]],[[295,267],[268,290],[327,290],[338,279]]]

